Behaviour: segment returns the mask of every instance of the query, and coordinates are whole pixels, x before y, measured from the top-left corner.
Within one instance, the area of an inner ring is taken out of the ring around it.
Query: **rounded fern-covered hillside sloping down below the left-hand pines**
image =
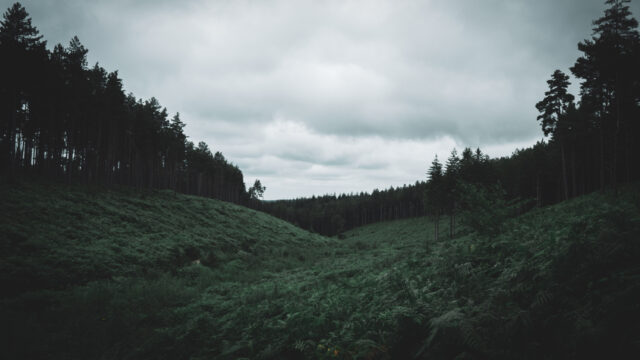
[[[330,241],[230,203],[172,191],[26,184],[0,192],[6,290],[176,271],[221,273],[301,263]],[[272,257],[280,261],[274,263]]]

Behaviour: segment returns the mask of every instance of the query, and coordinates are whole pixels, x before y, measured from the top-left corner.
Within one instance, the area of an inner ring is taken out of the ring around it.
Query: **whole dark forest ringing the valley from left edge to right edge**
[[[607,0],[590,38],[578,43],[580,55],[569,69],[580,81],[577,101],[563,71],[550,76],[535,104],[546,140],[496,159],[480,149],[453,150],[446,160],[436,157],[426,181],[413,185],[280,201],[260,201],[265,188],[258,181],[247,190],[238,167],[206,143],[188,141],[179,114],[170,117],[155,98],[125,94],[117,72],[88,67],[77,37],[49,51],[16,3],[0,27],[0,170],[9,178],[214,197],[324,235],[424,215],[448,216],[452,235],[473,194],[517,203],[521,212],[596,190],[615,192],[640,179],[640,36],[629,2]]]

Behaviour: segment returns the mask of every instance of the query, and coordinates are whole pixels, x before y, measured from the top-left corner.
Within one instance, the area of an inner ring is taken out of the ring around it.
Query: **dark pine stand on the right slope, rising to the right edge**
[[[455,154],[444,172],[434,161],[427,201],[436,219],[449,216],[450,232],[455,214],[472,205],[465,204],[465,198],[474,198],[469,184],[473,192],[492,192],[493,200],[535,199],[541,206],[595,190],[617,193],[620,183],[640,179],[640,35],[629,2],[607,0],[604,15],[593,22],[591,38],[578,44],[581,55],[570,68],[580,80],[577,103],[563,71],[555,70],[547,81],[548,90],[536,109],[548,141],[491,161],[492,169],[482,179],[455,175],[460,171]],[[455,181],[447,180],[449,173]],[[504,194],[491,189],[495,184]]]

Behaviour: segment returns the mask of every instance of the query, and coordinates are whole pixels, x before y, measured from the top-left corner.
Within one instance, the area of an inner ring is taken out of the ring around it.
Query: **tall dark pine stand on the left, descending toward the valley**
[[[25,8],[0,24],[0,170],[248,201],[240,169],[187,140],[180,114],[125,94],[118,72],[89,67],[77,37],[48,50]]]

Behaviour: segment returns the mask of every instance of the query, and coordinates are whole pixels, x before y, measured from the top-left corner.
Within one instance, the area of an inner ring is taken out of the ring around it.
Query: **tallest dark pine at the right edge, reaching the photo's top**
[[[638,83],[638,22],[631,15],[630,0],[607,0],[604,16],[593,22],[591,39],[578,44],[583,55],[571,68],[582,79],[583,101],[595,104],[600,131],[600,186],[605,186],[605,167],[609,182],[616,188],[618,159],[625,158],[625,174],[630,177],[634,130],[631,116],[637,111],[634,83]],[[634,79],[635,77],[635,79]],[[621,134],[624,151],[620,151]],[[636,134],[637,135],[637,134]]]

